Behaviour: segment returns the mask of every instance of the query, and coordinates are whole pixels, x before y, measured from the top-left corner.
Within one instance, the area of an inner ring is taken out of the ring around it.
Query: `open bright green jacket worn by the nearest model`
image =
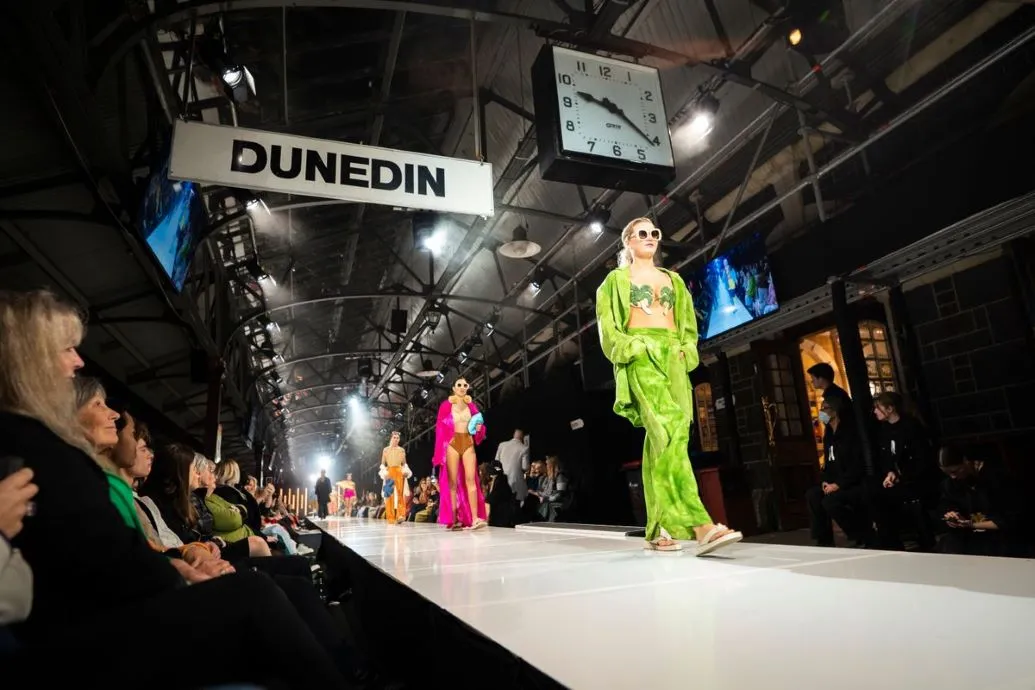
[[[693,300],[686,290],[686,283],[678,273],[661,269],[672,278],[676,293],[674,317],[676,335],[686,364],[686,373],[698,368],[698,319],[693,312]],[[647,343],[642,337],[628,334],[629,292],[631,290],[629,269],[616,268],[603,279],[596,290],[596,326],[600,333],[603,356],[615,365],[615,413],[643,426],[640,412],[632,401],[629,377],[626,366],[647,353]]]

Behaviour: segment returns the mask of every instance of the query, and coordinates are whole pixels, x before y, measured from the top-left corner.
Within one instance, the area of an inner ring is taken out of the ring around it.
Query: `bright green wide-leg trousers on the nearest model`
[[[647,539],[693,539],[693,528],[711,522],[698,493],[687,447],[693,408],[689,378],[679,357],[679,339],[664,328],[633,328],[647,354],[626,368],[632,399],[647,438],[644,440],[644,499]]]

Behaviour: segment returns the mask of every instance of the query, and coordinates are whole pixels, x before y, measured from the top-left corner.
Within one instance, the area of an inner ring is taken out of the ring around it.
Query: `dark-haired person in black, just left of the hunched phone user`
[[[927,511],[938,501],[939,472],[927,429],[906,411],[901,395],[881,393],[874,401],[878,428],[874,509],[881,548],[903,548],[903,518],[909,516],[921,550],[935,546]]]

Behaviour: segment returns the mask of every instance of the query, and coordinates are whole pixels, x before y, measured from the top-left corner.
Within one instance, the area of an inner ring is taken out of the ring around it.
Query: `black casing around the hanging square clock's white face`
[[[659,95],[664,102],[663,94]],[[557,104],[557,69],[554,47],[550,43],[542,47],[532,64],[532,98],[535,102],[535,131],[542,179],[644,194],[661,193],[676,179],[673,166],[638,163],[563,150],[561,114]]]

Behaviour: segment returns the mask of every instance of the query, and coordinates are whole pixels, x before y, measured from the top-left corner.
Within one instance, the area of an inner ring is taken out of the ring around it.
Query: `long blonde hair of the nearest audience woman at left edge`
[[[79,310],[50,291],[0,291],[0,410],[35,419],[107,469],[86,440],[60,364],[85,330]]]

